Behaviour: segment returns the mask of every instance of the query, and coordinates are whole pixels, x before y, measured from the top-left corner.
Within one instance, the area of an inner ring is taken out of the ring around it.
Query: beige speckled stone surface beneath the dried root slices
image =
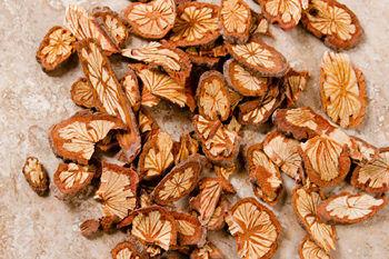
[[[247,0],[257,11],[259,6]],[[215,1],[220,4],[219,1]],[[347,51],[356,68],[366,77],[368,104],[361,126],[347,132],[381,148],[389,146],[389,1],[342,0],[359,18],[366,32],[363,42]],[[127,0],[0,0],[0,258],[78,259],[110,258],[110,250],[126,237],[123,231],[98,232],[92,238],[81,236],[79,225],[103,215],[100,205],[92,199],[93,190],[69,202],[38,197],[28,186],[21,172],[24,160],[34,156],[43,163],[50,178],[57,169],[57,159],[49,147],[47,130],[72,116],[81,108],[70,100],[70,87],[83,76],[76,56],[60,71],[50,76],[41,71],[36,51],[47,31],[62,26],[67,4],[82,3],[88,10],[109,6],[120,11],[130,4]],[[309,70],[307,88],[296,107],[311,106],[321,112],[318,89],[320,60],[326,50],[322,42],[297,27],[283,32],[277,26],[270,28],[273,37],[263,40],[281,51],[296,69]],[[131,37],[126,46],[137,47],[141,40]],[[120,78],[126,63],[112,57],[113,69]],[[158,112],[157,112],[158,111]],[[192,114],[162,101],[151,109],[162,130],[178,140],[179,135],[191,128]],[[261,141],[271,124],[247,127],[246,142]],[[212,175],[215,172],[207,172]],[[305,237],[291,206],[291,192],[296,186],[287,176],[279,203],[272,208],[282,225],[279,248],[272,258],[298,258],[298,246]],[[238,195],[231,201],[252,196],[250,182],[241,169],[231,178]],[[341,191],[356,192],[347,182],[327,188],[326,195]],[[352,226],[337,227],[337,250],[333,258],[387,258],[389,251],[389,208],[380,210],[372,219]],[[209,233],[227,259],[238,258],[235,239],[226,230]]]

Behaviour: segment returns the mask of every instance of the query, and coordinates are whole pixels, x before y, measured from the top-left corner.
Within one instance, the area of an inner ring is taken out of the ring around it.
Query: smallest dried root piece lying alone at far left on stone
[[[44,196],[49,189],[48,173],[38,158],[29,157],[23,166],[23,175],[31,189],[39,196]]]

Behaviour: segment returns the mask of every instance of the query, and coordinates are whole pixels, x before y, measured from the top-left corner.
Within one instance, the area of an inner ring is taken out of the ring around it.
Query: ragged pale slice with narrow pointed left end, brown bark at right
[[[188,54],[164,40],[151,41],[139,49],[123,49],[121,54],[143,61],[150,68],[161,67],[180,86],[186,84],[192,69]]]

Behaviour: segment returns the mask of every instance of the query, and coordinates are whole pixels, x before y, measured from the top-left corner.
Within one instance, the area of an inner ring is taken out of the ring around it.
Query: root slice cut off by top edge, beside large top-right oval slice
[[[271,22],[277,22],[282,30],[290,31],[301,19],[300,0],[256,0]]]

